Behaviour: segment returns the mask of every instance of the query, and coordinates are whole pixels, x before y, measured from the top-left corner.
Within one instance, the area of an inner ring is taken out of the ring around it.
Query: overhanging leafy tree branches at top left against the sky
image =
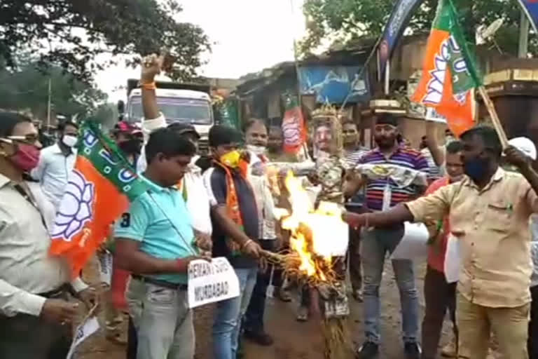
[[[167,74],[190,79],[209,42],[200,27],[175,20],[179,13],[177,0],[2,0],[0,58],[13,69],[15,55],[30,48],[41,63],[88,81],[117,55],[134,65],[138,55],[166,49],[175,60]]]

